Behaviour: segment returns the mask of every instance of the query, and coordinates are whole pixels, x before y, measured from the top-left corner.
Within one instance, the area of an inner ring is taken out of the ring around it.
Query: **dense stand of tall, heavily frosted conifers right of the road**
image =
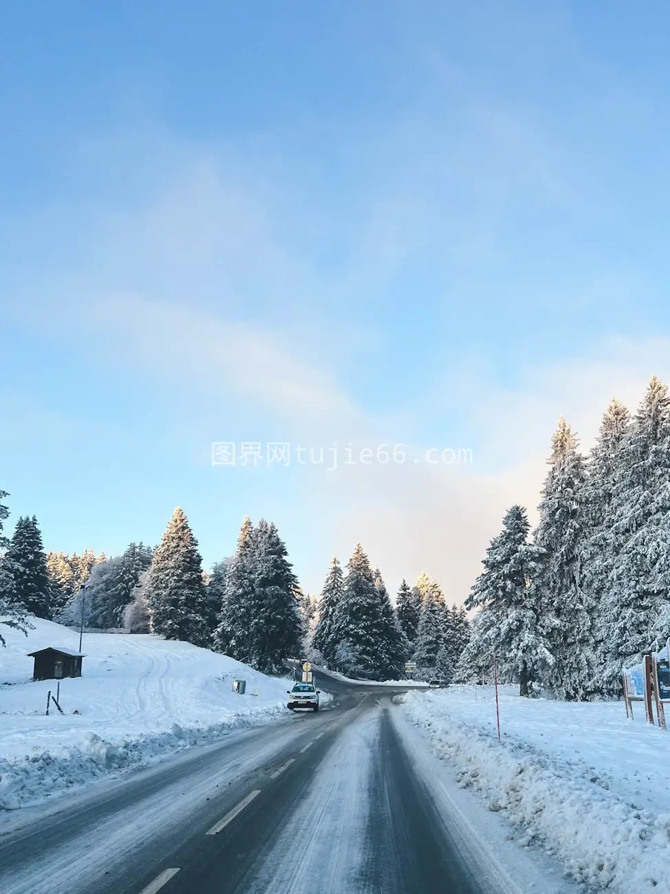
[[[588,457],[561,419],[539,523],[509,509],[465,605],[478,611],[459,672],[521,695],[620,692],[626,666],[670,636],[670,397],[656,376],[632,416],[613,400]]]

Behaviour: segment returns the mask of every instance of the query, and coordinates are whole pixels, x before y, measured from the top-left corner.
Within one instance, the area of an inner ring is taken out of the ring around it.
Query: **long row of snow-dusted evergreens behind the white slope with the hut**
[[[1,507],[0,532],[7,514]],[[180,508],[155,549],[131,543],[110,558],[88,549],[45,553],[35,517],[19,519],[12,541],[2,545],[0,618],[21,629],[30,614],[72,627],[83,621],[87,628],[186,640],[265,673],[308,655],[332,670],[380,680],[405,676],[409,659],[419,679],[449,680],[469,637],[465,610],[449,608],[424,573],[413,587],[403,581],[394,606],[360,544],[346,574],[333,559],[320,598],[306,594],[277,528],[265,519],[256,526],[244,519],[234,554],[209,574]]]

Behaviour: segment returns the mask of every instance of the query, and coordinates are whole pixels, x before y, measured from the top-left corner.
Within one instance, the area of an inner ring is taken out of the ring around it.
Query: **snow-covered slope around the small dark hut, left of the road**
[[[33,623],[27,638],[4,628],[7,645],[0,648],[0,809],[288,715],[287,679],[188,643],[85,633],[82,676],[61,681],[64,715],[52,702],[47,717],[46,693],[55,694],[56,681],[33,682],[27,653],[47,645],[78,649],[79,634],[51,621]],[[247,680],[243,696],[232,690],[237,678]]]

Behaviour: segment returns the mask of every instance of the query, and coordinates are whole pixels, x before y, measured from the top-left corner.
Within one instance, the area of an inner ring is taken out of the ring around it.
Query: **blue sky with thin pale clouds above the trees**
[[[4,4],[0,488],[47,548],[460,602],[557,416],[668,377],[666,4]],[[275,441],[404,464],[213,468]],[[468,448],[466,466],[426,462]],[[415,462],[415,460],[417,460]],[[10,519],[10,521],[12,520]]]

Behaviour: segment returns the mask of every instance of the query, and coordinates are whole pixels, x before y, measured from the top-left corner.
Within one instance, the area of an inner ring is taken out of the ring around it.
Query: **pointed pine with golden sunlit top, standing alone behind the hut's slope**
[[[156,547],[145,595],[151,626],[166,639],[207,645],[205,586],[197,540],[180,507],[174,510]]]

